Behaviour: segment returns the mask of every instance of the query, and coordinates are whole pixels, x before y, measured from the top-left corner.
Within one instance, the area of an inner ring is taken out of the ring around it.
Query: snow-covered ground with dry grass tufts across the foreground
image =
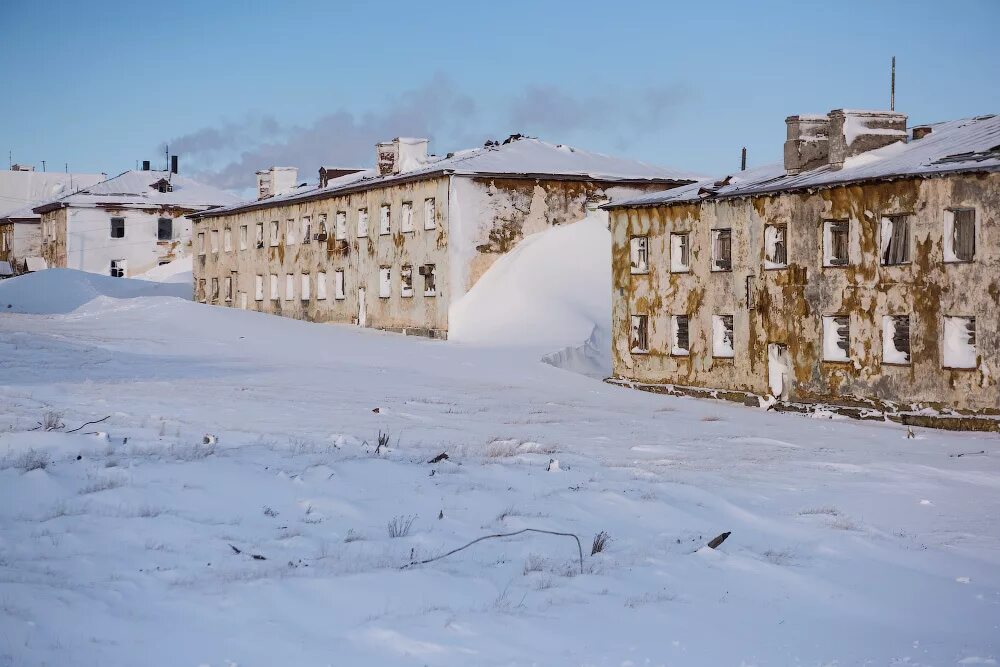
[[[996,435],[657,396],[176,287],[0,283],[0,664],[1000,659]],[[533,533],[401,569],[522,528],[579,535],[583,573]]]

